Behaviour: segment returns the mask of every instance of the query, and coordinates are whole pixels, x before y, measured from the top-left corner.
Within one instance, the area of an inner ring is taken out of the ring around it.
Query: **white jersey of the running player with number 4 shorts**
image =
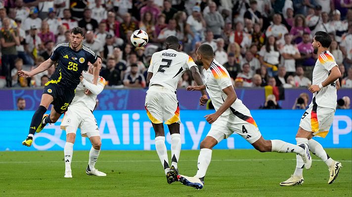
[[[222,91],[223,89],[231,86],[232,82],[230,79],[230,75],[227,70],[220,65],[216,60],[213,60],[210,68],[208,70],[203,69],[204,74],[204,84],[206,86],[208,95],[210,99],[212,99],[213,106],[216,111],[220,108],[222,103],[227,98],[227,95]],[[241,109],[248,110],[247,107],[242,103],[242,100],[236,99],[234,103],[231,105],[232,110]],[[231,109],[228,108],[225,112],[221,114],[221,116],[229,115]],[[248,110],[249,113],[249,110]],[[250,113],[249,113],[250,114]]]

